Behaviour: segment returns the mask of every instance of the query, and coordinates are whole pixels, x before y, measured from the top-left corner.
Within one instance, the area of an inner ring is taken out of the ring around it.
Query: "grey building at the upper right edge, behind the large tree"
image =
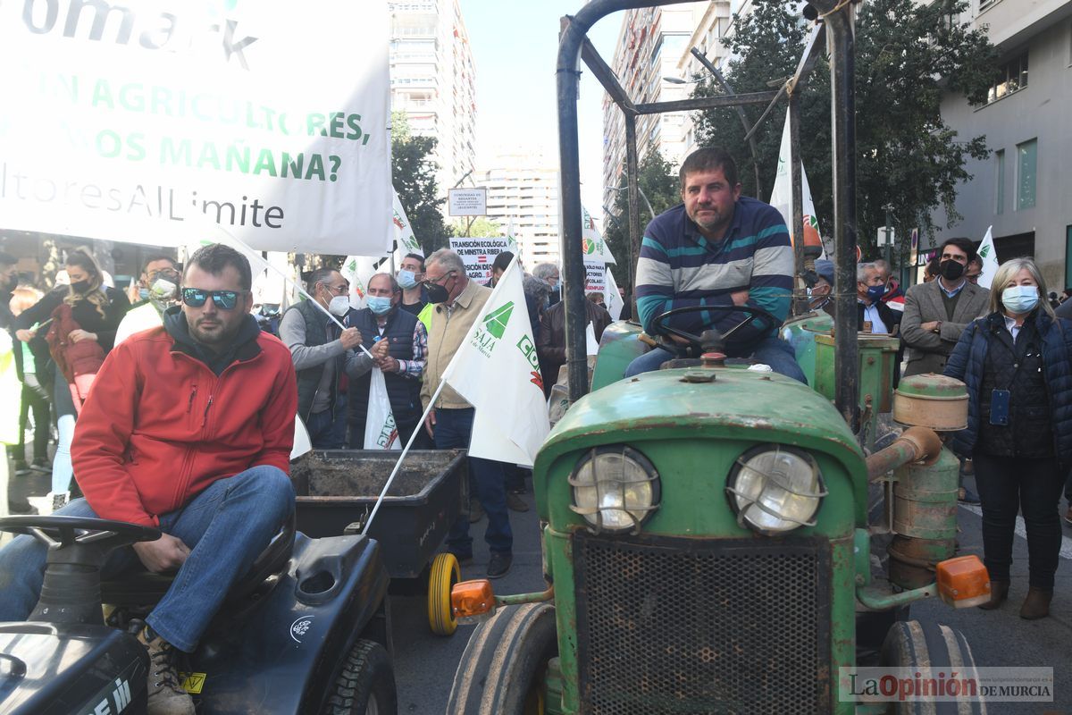
[[[979,241],[993,225],[998,259],[1033,255],[1051,289],[1072,286],[1072,0],[970,0],[958,18],[985,27],[1001,74],[985,105],[950,94],[942,117],[962,137],[986,136],[992,154],[969,161],[958,187],[964,217],[947,238]]]

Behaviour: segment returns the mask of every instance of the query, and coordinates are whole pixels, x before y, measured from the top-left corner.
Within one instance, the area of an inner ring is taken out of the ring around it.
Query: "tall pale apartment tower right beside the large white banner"
[[[476,162],[476,68],[458,0],[388,2],[391,109],[415,134],[438,139],[446,194]]]

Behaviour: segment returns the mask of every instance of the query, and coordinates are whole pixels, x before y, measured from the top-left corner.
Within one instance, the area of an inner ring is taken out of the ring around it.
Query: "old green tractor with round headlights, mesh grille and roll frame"
[[[708,333],[693,337],[701,358],[623,379],[647,345],[639,325],[622,322],[604,333],[584,394],[584,323],[569,322],[584,315],[574,68],[583,48],[605,86],[614,81],[584,33],[606,14],[646,4],[593,0],[563,32],[567,343],[580,349],[570,352],[571,405],[533,471],[547,589],[496,595],[486,580],[455,586],[455,615],[480,625],[447,713],[915,712],[919,703],[864,702],[851,675],[863,665],[973,673],[963,635],[906,620],[922,598],[955,607],[988,598],[979,560],[953,557],[959,465],[934,431],[962,427],[962,385],[905,381],[894,416],[914,427],[866,455],[872,415],[889,408],[896,347],[858,338],[853,306],[843,301],[837,314],[851,323],[835,319],[831,329],[810,315],[783,328],[815,388],[726,364],[709,351],[721,337]],[[827,21],[832,65],[840,66],[848,20],[838,18],[851,8],[815,4],[835,11]],[[835,73],[835,101],[838,90],[851,93]],[[849,153],[835,145],[835,157]],[[837,293],[854,300],[842,289],[854,281],[854,255],[840,250],[846,225],[835,228]],[[764,317],[743,313],[745,322]],[[879,539],[889,574],[876,569]],[[970,698],[934,706],[927,712],[985,712]]]

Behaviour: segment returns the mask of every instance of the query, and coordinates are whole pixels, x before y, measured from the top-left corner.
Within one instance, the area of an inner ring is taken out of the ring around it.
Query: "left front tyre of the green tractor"
[[[542,715],[548,660],[559,653],[554,607],[498,609],[473,632],[458,664],[451,715]]]

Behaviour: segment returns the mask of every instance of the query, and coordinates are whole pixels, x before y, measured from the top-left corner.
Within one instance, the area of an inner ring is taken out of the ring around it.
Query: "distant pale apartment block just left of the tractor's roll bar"
[[[527,268],[545,260],[559,263],[556,160],[520,149],[501,153],[474,175],[474,182],[488,189],[487,218],[503,232],[510,228]]]

